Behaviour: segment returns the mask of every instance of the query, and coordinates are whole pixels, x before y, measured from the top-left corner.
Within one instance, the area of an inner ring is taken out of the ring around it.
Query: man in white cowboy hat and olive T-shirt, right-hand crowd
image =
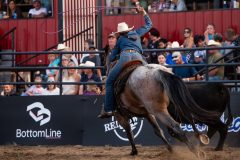
[[[220,46],[221,44],[214,40],[208,41],[208,47],[220,47]],[[222,57],[219,50],[209,50],[208,54],[209,54],[208,64],[214,64],[218,59]],[[221,63],[224,63],[223,59],[217,62],[217,64],[221,64]],[[221,80],[224,78],[224,66],[210,67],[209,70],[210,70],[208,72],[209,80]]]

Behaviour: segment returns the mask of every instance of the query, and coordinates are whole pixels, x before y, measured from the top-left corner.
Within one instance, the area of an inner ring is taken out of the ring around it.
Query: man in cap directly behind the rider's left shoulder
[[[112,52],[112,50],[114,49],[115,45],[117,42],[117,37],[115,35],[115,33],[110,33],[108,35],[108,42],[107,45],[104,48],[104,54],[101,54],[101,64],[102,66],[105,66],[105,69],[103,71],[102,75],[107,75],[108,74],[108,70],[110,69],[110,62],[109,62],[109,56]],[[105,72],[105,74],[104,74]]]

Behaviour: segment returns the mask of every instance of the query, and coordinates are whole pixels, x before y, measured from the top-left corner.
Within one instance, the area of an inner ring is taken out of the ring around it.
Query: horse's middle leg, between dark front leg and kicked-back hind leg
[[[148,119],[148,121],[152,125],[152,127],[154,128],[155,134],[163,140],[163,142],[167,146],[167,149],[170,152],[172,152],[172,146],[169,144],[168,140],[166,139],[166,137],[163,133],[163,130],[159,127],[156,118],[150,114],[146,118]]]

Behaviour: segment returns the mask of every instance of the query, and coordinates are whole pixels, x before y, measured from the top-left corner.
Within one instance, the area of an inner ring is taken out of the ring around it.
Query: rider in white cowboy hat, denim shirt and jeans
[[[118,61],[107,77],[104,110],[98,116],[99,118],[109,118],[113,115],[116,106],[113,85],[117,75],[122,70],[123,65],[132,60],[141,60],[145,63],[141,55],[143,50],[140,37],[152,28],[152,21],[143,7],[137,5],[136,7],[138,12],[144,16],[145,25],[133,30],[134,27],[129,28],[125,22],[118,24],[116,33],[119,34],[119,38],[112,54],[110,55],[111,62]]]

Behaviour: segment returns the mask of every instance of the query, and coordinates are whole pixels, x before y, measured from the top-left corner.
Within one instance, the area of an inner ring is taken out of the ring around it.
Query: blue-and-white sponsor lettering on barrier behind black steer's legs
[[[224,114],[221,116],[220,119],[223,123],[227,122],[227,119],[225,118]],[[199,132],[208,130],[208,126],[205,124],[195,124],[195,126]],[[180,124],[180,127],[182,128],[183,131],[193,132],[192,125],[190,124]],[[229,126],[228,128],[228,132],[234,132],[234,133],[240,132],[240,117],[235,117],[233,119],[231,126]]]

